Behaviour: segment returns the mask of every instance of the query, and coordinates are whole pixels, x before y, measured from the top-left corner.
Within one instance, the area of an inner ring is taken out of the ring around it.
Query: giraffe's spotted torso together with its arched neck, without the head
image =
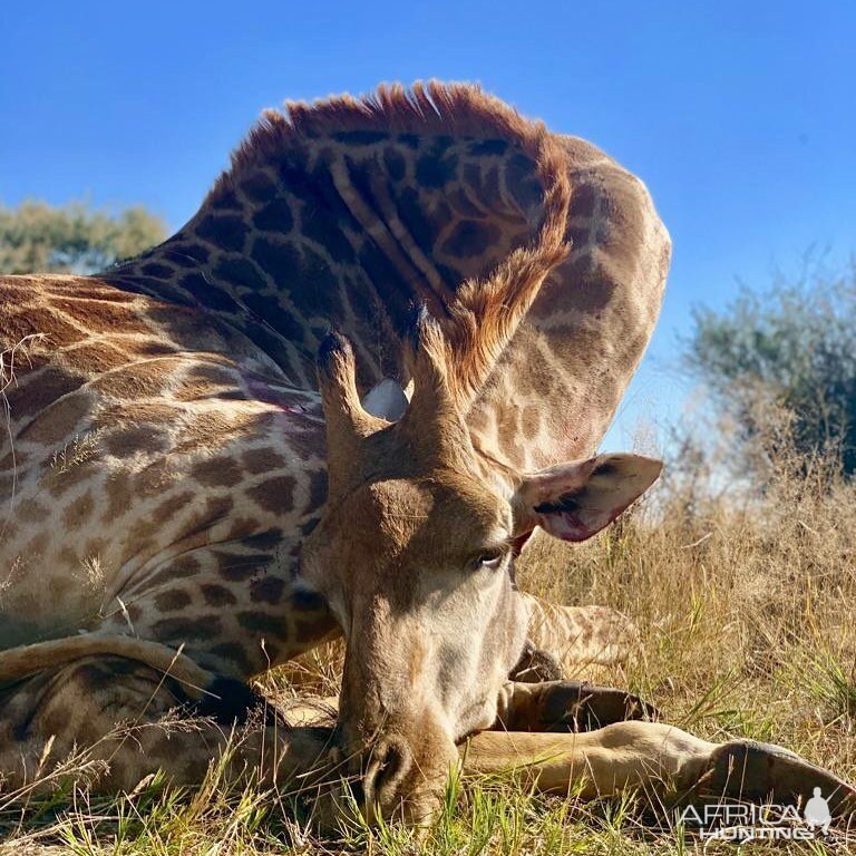
[[[395,89],[380,119],[351,99],[268,114],[162,246],[97,278],[4,281],[0,643],[132,632],[247,678],[335,632],[296,576],[325,496],[320,338],[347,332],[363,389],[406,383],[412,301],[442,315],[538,218],[532,160],[507,139],[525,123],[440,93],[444,116]],[[485,454],[518,467],[593,451],[668,264],[638,179],[563,145],[571,255],[469,417]]]

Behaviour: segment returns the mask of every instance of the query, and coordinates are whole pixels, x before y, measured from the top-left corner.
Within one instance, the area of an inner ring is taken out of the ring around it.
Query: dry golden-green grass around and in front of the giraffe
[[[522,586],[631,615],[642,632],[639,658],[592,677],[630,687],[669,721],[713,740],[781,743],[856,779],[856,487],[821,464],[801,460],[795,469],[779,460],[772,469],[760,499],[747,498],[737,484],[717,496],[684,477],[667,481],[644,507],[585,545],[539,537],[521,567]],[[270,675],[269,692],[285,700],[298,689],[334,691],[338,654],[329,654]],[[406,830],[359,825],[342,842],[321,842],[288,800],[228,786],[218,769],[195,795],[164,792],[155,782],[134,798],[69,799],[23,814],[7,808],[0,829],[8,852],[702,852],[680,826],[642,824],[631,800],[580,805],[488,781],[451,786],[446,813],[420,846]],[[847,849],[836,840],[790,844],[788,852]],[[782,852],[774,844],[752,848]],[[713,844],[704,852],[735,847]]]

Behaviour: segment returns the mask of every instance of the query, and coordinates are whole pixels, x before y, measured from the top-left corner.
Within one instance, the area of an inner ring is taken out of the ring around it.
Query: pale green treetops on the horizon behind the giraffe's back
[[[164,237],[166,224],[140,205],[116,215],[79,202],[0,205],[0,271],[95,273]]]

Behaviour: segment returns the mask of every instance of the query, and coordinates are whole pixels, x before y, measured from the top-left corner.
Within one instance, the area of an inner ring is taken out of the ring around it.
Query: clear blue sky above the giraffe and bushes
[[[478,80],[641,176],[671,231],[659,330],[605,448],[680,414],[694,303],[856,251],[856,2],[0,4],[0,201],[143,203],[178,227],[261,108]]]

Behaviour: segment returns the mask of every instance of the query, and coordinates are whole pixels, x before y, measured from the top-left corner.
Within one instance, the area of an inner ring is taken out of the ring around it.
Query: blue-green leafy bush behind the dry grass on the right
[[[735,420],[752,471],[769,464],[759,441],[775,453],[784,431],[798,451],[831,450],[856,473],[856,261],[838,275],[813,266],[797,282],[778,276],[765,293],[743,288],[726,310],[693,317],[685,368]]]

